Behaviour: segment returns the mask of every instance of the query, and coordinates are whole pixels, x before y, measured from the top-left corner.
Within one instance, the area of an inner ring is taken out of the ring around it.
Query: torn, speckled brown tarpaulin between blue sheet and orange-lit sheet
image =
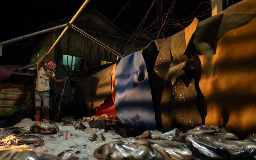
[[[154,40],[143,48],[156,112],[156,126],[162,131],[175,127],[187,131],[201,125],[196,107],[195,67],[192,57],[184,56],[197,26],[197,19],[185,30],[166,39]],[[189,35],[185,37],[185,33]]]

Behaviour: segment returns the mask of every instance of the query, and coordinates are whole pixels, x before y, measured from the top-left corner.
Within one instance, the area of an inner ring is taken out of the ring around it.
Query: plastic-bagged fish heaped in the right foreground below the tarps
[[[145,131],[133,142],[115,141],[97,148],[97,159],[250,159],[256,155],[256,135],[246,140],[217,126],[199,126],[182,134]]]

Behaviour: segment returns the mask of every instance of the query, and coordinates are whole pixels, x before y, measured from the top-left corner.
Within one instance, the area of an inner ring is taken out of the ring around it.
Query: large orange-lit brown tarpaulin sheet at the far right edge
[[[199,24],[194,60],[205,124],[245,138],[256,132],[256,1],[236,3]]]

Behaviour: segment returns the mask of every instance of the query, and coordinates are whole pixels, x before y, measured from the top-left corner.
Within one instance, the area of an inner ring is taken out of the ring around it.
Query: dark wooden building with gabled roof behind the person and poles
[[[48,22],[46,25],[41,25],[38,30],[68,23],[71,18]],[[81,13],[73,24],[122,55],[139,51],[156,39],[148,31],[135,34],[131,39],[131,35],[127,35],[96,9]],[[45,52],[48,52],[62,30],[45,33],[29,40],[30,45],[26,46],[26,49],[31,52],[30,64],[36,63]],[[88,61],[88,69],[91,69],[101,64],[115,62],[117,56],[70,28],[51,51],[46,62],[55,61],[57,64],[69,65],[71,69],[79,71],[84,70],[79,64],[81,59],[85,58]]]

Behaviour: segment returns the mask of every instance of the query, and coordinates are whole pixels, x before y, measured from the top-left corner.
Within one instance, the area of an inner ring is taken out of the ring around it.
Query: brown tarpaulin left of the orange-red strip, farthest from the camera
[[[77,116],[91,116],[90,111],[111,95],[112,73],[113,65],[77,83],[74,91]]]

